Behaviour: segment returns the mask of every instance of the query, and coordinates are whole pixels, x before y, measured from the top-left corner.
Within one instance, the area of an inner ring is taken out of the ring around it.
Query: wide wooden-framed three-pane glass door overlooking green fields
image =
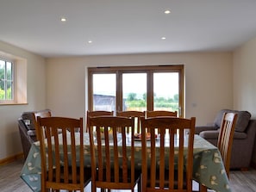
[[[89,68],[90,110],[183,111],[183,65]]]

